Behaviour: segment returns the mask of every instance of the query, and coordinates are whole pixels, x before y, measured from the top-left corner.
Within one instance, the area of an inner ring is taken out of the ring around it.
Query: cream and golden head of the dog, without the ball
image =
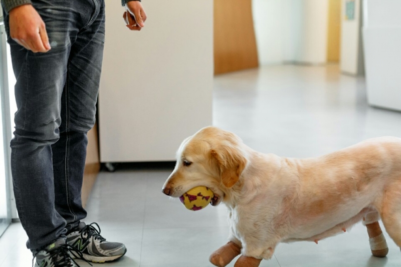
[[[177,151],[173,172],[163,185],[163,193],[179,197],[196,186],[215,193],[212,205],[219,204],[239,182],[247,159],[242,140],[216,127],[206,127],[186,138]]]

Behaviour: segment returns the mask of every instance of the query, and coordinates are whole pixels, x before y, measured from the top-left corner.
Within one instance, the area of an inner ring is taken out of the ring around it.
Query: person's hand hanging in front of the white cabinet
[[[122,17],[128,29],[131,31],[140,31],[145,27],[146,13],[139,1],[128,2],[125,4],[125,10]]]

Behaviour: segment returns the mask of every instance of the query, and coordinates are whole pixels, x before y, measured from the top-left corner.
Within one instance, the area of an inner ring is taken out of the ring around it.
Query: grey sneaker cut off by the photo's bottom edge
[[[80,267],[71,257],[72,250],[65,239],[57,239],[35,253],[35,267]],[[80,257],[79,251],[75,253]]]

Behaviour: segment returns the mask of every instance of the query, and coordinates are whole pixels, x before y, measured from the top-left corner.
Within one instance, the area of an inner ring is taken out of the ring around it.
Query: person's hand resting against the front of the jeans
[[[9,17],[10,37],[14,41],[34,53],[51,49],[45,23],[32,5],[12,9]]]

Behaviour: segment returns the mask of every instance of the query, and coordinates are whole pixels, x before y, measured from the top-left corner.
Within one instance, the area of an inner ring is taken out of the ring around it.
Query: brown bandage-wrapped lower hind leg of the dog
[[[363,217],[362,223],[366,226],[367,234],[369,235],[370,250],[373,256],[385,257],[388,253],[388,247],[378,219],[379,214],[377,211],[370,212]]]

